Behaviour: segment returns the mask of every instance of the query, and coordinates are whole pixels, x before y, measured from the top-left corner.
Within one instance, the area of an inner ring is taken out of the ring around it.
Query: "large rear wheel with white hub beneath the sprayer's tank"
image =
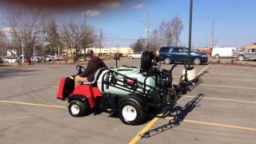
[[[146,113],[136,102],[127,100],[118,106],[118,116],[127,125],[139,125],[145,120]]]

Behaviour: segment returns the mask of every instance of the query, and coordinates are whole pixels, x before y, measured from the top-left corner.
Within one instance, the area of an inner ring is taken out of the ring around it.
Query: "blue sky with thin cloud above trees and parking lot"
[[[163,19],[178,16],[184,23],[181,44],[188,43],[189,0],[131,0],[107,6],[87,7],[87,24],[103,31],[106,46],[130,46],[136,38],[146,38],[146,16],[150,29]],[[218,46],[244,46],[256,42],[255,0],[194,0],[193,44],[210,45],[211,24],[215,21]],[[58,12],[58,21],[74,18],[82,24],[83,8]],[[3,13],[2,13],[3,14]]]

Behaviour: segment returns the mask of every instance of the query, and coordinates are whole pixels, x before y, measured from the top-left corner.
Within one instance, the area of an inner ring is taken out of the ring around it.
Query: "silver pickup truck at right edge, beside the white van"
[[[250,49],[248,51],[233,51],[232,57],[238,58],[239,61],[256,59],[256,49]]]

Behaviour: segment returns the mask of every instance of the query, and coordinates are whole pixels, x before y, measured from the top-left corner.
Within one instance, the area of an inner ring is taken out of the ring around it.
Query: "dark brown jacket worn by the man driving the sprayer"
[[[86,77],[89,82],[92,82],[94,81],[95,73],[97,72],[98,69],[101,69],[101,68],[107,69],[106,64],[102,61],[101,58],[94,57],[94,58],[91,58],[90,61],[88,62],[86,70],[79,75],[80,77],[83,77],[83,78]]]

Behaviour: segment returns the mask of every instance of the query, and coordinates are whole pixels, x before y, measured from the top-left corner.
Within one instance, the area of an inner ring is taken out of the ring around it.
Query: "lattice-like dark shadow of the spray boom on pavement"
[[[204,94],[198,94],[195,98],[193,98],[190,102],[186,103],[186,106],[172,106],[166,108],[164,110],[162,116],[157,116],[158,118],[172,118],[170,121],[163,125],[155,128],[154,130],[147,131],[144,134],[141,134],[141,138],[150,138],[156,134],[160,134],[166,130],[170,130],[176,126],[180,126],[181,122],[186,118],[187,114],[189,114],[196,106],[198,102],[202,100]]]

